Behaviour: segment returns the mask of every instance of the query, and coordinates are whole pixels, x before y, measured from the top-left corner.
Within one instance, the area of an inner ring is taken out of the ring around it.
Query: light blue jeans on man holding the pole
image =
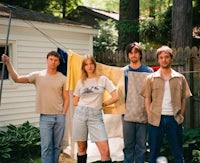
[[[65,115],[40,115],[42,163],[58,163],[64,130]]]

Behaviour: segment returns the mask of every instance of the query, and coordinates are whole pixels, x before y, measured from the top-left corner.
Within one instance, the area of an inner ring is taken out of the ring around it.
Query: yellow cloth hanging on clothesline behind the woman
[[[81,63],[83,56],[68,51],[67,64],[67,90],[74,90],[81,74]],[[105,114],[123,114],[125,112],[124,71],[120,67],[108,66],[97,62],[97,73],[107,76],[116,86],[120,99],[110,106],[103,108]],[[104,101],[110,98],[105,91]]]

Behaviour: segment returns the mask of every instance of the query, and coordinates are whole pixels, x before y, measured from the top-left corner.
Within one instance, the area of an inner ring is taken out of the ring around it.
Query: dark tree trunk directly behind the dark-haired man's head
[[[126,45],[139,41],[139,0],[120,0],[118,32],[119,61],[122,62]]]

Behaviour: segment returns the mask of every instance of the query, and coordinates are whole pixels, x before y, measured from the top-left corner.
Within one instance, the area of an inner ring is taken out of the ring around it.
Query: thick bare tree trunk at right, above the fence
[[[192,0],[173,0],[172,47],[192,46]]]

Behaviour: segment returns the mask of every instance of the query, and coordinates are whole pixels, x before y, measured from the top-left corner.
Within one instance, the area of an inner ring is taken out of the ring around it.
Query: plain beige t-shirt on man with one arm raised
[[[42,70],[29,74],[28,80],[36,87],[36,113],[62,114],[66,76],[60,72],[51,75]]]

